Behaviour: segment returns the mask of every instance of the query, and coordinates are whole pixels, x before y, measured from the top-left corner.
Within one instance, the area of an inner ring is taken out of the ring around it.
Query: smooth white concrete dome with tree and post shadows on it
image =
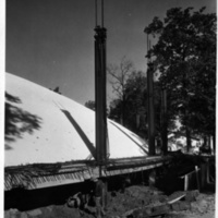
[[[95,112],[27,80],[5,74],[5,167],[90,159]],[[70,116],[70,118],[66,116]],[[109,158],[145,156],[145,142],[108,119]]]

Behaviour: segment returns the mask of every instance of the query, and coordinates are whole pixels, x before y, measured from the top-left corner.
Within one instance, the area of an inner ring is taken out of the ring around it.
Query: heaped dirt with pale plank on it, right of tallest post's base
[[[174,192],[166,196],[162,192],[146,186],[129,187],[125,193],[111,199],[108,206],[108,217],[116,218],[146,218],[173,213],[202,215],[208,211],[215,213],[214,196],[198,191]]]

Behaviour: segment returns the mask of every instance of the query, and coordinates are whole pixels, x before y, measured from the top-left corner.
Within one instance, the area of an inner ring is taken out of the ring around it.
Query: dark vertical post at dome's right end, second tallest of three
[[[154,108],[154,65],[148,63],[147,70],[147,111],[148,111],[148,152],[155,155],[155,108]]]

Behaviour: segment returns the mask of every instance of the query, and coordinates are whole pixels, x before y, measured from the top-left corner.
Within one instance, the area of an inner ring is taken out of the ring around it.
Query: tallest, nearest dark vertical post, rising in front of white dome
[[[96,152],[98,165],[107,159],[106,28],[95,28]]]

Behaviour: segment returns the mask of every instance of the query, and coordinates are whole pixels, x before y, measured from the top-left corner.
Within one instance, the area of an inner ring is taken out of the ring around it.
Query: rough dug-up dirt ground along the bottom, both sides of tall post
[[[178,197],[184,195],[180,201]],[[95,218],[95,206],[84,210],[65,205],[50,205],[28,211],[9,209],[4,218]],[[157,189],[133,185],[124,193],[110,192],[105,218],[215,218],[215,192],[175,192],[169,196]]]

